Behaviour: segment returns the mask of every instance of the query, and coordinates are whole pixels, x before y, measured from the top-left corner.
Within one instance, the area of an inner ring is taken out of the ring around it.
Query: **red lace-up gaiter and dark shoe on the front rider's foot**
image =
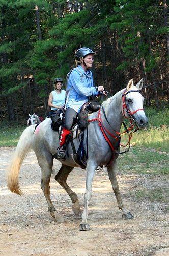
[[[70,134],[69,130],[66,130],[65,127],[63,127],[61,136],[60,136],[60,144],[57,153],[54,154],[54,158],[57,158],[58,160],[65,160],[66,158],[66,140],[68,135]]]

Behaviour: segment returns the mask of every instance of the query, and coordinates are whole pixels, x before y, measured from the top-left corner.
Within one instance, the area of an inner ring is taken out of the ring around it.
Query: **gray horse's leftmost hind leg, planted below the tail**
[[[50,212],[50,215],[55,219],[55,221],[58,223],[64,222],[63,217],[58,214],[50,199],[49,182],[53,166],[53,157],[49,152],[45,152],[45,155],[43,154],[43,156],[37,157],[37,159],[42,171],[41,188],[48,203],[48,211]]]

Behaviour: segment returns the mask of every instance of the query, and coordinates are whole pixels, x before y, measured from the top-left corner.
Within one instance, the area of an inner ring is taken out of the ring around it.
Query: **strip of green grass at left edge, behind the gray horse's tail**
[[[16,146],[25,126],[0,129],[0,146]]]

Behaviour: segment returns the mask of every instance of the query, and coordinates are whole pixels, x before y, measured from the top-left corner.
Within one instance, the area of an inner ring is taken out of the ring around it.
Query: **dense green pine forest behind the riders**
[[[153,0],[0,0],[0,122],[48,114],[80,47],[95,51],[96,85],[110,95],[144,79],[146,105],[169,102],[168,6]]]

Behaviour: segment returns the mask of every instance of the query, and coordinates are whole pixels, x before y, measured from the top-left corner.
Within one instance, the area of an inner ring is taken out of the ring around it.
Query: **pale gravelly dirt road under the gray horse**
[[[134,191],[159,186],[159,177],[118,175],[123,202],[134,219],[123,220],[105,169],[96,171],[89,206],[90,231],[79,231],[81,212],[76,216],[71,200],[54,180],[51,199],[65,222],[54,222],[40,188],[41,171],[34,152],[24,160],[19,173],[22,197],[11,193],[5,168],[14,147],[0,148],[0,255],[169,255],[169,212],[165,203],[138,200]],[[60,163],[54,161],[55,172]],[[163,178],[164,179],[164,178]],[[77,193],[81,209],[85,193],[85,171],[74,169],[68,183]]]

